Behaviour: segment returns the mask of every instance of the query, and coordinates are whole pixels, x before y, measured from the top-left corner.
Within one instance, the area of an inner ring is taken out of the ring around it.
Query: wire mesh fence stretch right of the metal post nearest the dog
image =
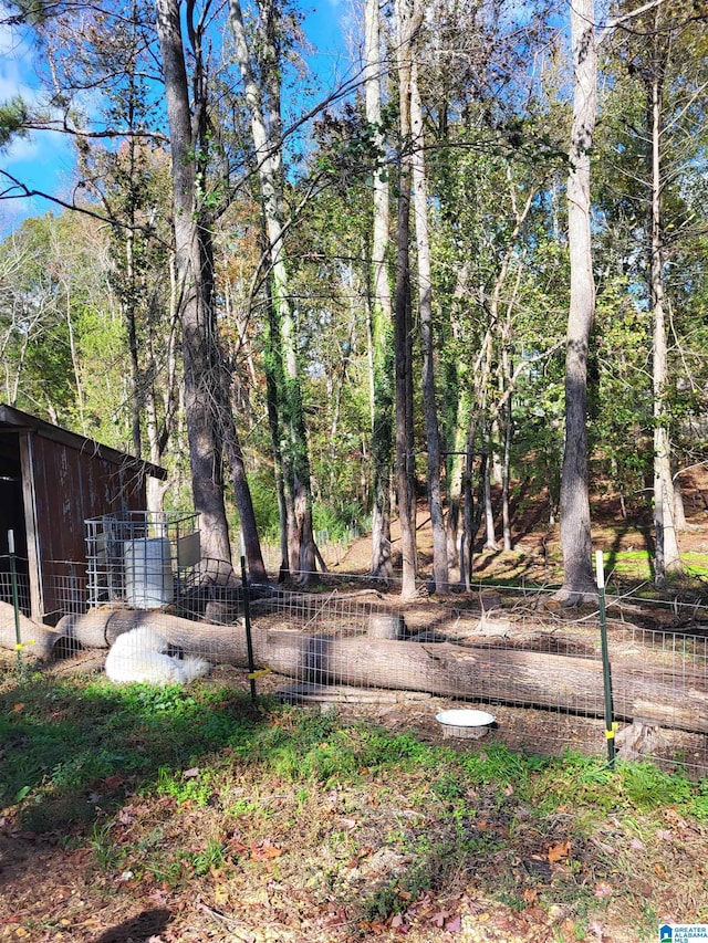
[[[604,753],[596,616],[540,614],[519,596],[398,606],[339,590],[281,593],[257,601],[253,628],[268,632],[277,693],[293,703],[429,736],[445,732],[442,710],[485,708],[496,717],[488,736],[513,748]],[[611,619],[621,756],[708,773],[707,646],[701,635]]]

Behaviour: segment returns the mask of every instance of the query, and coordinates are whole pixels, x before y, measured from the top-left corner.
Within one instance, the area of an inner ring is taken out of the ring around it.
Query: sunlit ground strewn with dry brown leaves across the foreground
[[[31,795],[1,809],[0,941],[637,943],[659,919],[708,921],[707,828],[684,808],[623,808],[621,789],[614,808],[598,786],[581,809],[562,783],[551,803],[529,787],[533,765],[475,778],[467,758],[493,771],[493,744],[440,751],[426,732],[420,762],[368,756],[317,778],[278,763],[301,717],[261,713],[259,742],[284,744],[272,756],[235,740],[176,762],[176,780],[208,774],[204,795],[116,768],[95,789],[113,804],[97,799],[90,826],[29,829]],[[344,717],[317,723],[315,754],[362,741]],[[336,740],[340,723],[354,732]]]

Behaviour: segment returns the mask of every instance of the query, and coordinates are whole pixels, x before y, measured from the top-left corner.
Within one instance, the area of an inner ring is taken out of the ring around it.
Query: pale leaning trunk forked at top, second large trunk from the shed
[[[272,306],[278,318],[279,350],[282,358],[282,384],[278,386],[280,425],[288,434],[282,452],[283,482],[287,492],[288,544],[290,573],[308,583],[315,568],[310,493],[310,457],[305,436],[302,390],[296,354],[296,327],[290,303],[288,268],[284,255],[284,216],[282,177],[282,128],[280,122],[279,62],[274,40],[274,8],[264,2],[259,8],[261,44],[260,82],[251,64],[243,17],[239,0],[229,0],[229,20],[236,39],[236,57],[244,83],[251,135],[268,238]],[[268,96],[268,122],[264,112]]]

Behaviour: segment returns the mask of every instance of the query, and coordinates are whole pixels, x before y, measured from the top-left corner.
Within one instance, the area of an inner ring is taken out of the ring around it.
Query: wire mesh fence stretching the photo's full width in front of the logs
[[[188,682],[210,673],[219,683],[244,684],[244,596],[236,577],[191,587],[137,620],[126,616],[124,626],[113,612],[108,631],[90,606],[85,566],[54,562],[45,574],[60,600],[55,615],[93,614],[96,641],[75,648],[95,643],[95,668],[114,680]],[[485,709],[496,719],[485,742],[538,754],[605,751],[596,612],[552,611],[530,587],[404,604],[395,590],[352,575],[326,581],[317,591],[249,591],[254,667],[270,670],[259,692],[431,738],[449,735],[436,721],[441,711]],[[19,583],[24,607],[27,580]],[[0,598],[12,599],[2,573]],[[668,625],[649,628],[660,619],[649,620],[636,600],[615,600],[610,611],[620,755],[708,775],[707,614],[673,605],[662,610]],[[123,629],[108,656],[113,670],[101,646]]]

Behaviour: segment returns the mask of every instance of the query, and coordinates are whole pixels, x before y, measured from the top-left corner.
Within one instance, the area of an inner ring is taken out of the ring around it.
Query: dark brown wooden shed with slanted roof
[[[0,405],[0,568],[8,569],[12,531],[29,616],[55,621],[67,594],[84,591],[84,521],[145,510],[147,475],[167,472]],[[8,585],[6,575],[3,597]]]

